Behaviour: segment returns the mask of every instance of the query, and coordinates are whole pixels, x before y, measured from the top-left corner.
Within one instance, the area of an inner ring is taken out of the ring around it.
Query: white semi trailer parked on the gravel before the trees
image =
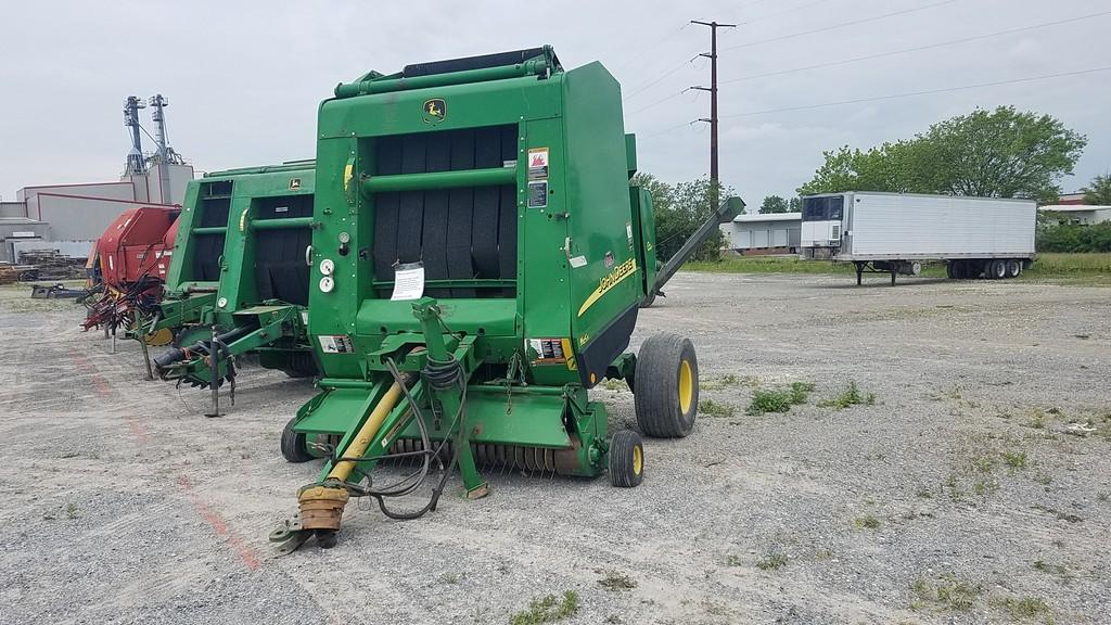
[[[917,276],[940,261],[953,279],[1015,278],[1034,259],[1033,200],[849,191],[802,198],[802,254],[865,272]]]

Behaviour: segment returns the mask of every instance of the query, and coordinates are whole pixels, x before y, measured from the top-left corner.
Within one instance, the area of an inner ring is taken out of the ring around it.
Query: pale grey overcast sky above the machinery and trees
[[[369,69],[542,43],[554,46],[564,67],[600,60],[622,83],[642,170],[670,182],[693,179],[709,171],[709,130],[687,122],[709,116],[709,97],[679,92],[707,85],[710,68],[688,62],[709,49],[708,29],[684,26],[691,19],[740,23],[719,38],[721,178],[750,205],[792,195],[823,150],[907,138],[998,105],[1052,115],[1088,136],[1065,191],[1111,170],[1111,71],[748,115],[1111,67],[1104,14],[748,79],[1111,11],[1108,0],[279,4],[7,3],[0,194],[13,199],[24,186],[118,178],[130,147],[121,113],[130,95],[170,99],[170,141],[197,169],[264,165],[313,156],[317,105],[337,82]],[[909,12],[881,17],[899,11]],[[830,28],[859,20],[869,21]],[[153,133],[149,109],[141,115]]]

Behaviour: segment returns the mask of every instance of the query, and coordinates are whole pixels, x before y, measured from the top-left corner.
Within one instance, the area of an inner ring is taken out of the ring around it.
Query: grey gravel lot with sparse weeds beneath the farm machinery
[[[496,473],[283,558],[310,383],[247,369],[206,419],[137,345],[2,288],[0,623],[508,623],[565,591],[561,623],[1111,623],[1111,291],[852,280],[677,276],[634,343],[690,336],[713,414],[645,440],[639,488]],[[863,404],[822,405],[851,381]],[[594,396],[634,427],[628,390]]]

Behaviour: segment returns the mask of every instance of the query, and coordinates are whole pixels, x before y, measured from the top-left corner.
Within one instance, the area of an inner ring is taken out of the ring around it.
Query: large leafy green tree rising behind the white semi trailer
[[[948,194],[1052,201],[1088,139],[1061,121],[1013,107],[977,109],[913,139],[867,151],[824,152],[802,195],[837,191]]]

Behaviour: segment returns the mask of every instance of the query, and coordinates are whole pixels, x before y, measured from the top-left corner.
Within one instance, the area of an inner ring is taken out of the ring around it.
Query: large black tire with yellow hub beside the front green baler
[[[637,355],[633,399],[640,430],[657,438],[681,438],[698,416],[698,358],[690,339],[673,334],[649,337]]]

